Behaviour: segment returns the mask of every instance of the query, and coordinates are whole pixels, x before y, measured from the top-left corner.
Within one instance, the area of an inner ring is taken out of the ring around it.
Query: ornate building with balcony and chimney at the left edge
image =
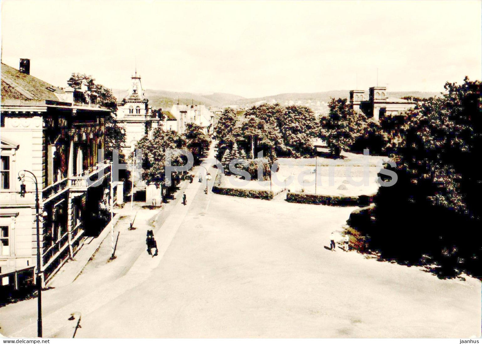
[[[38,181],[46,283],[80,250],[85,236],[105,226],[110,162],[103,149],[110,111],[97,105],[95,93],[59,89],[3,63],[1,94],[1,288],[18,288],[37,255],[34,178],[25,174],[22,197],[19,173],[28,170]]]

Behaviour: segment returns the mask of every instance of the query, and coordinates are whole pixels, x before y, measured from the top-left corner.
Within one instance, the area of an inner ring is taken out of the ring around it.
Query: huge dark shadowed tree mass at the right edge
[[[378,190],[372,244],[382,258],[438,265],[440,277],[482,276],[482,178],[474,163],[482,149],[482,86],[466,78],[445,90],[398,129],[390,168],[398,181]]]

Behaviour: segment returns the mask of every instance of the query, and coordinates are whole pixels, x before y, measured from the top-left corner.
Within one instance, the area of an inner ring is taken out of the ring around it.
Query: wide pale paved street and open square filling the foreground
[[[45,291],[45,335],[71,337],[73,312],[79,338],[480,335],[479,280],[324,248],[354,208],[205,195],[204,185],[184,182],[159,215],[120,234],[116,260],[107,263],[105,240],[71,285]],[[1,308],[0,326],[34,336],[36,300]]]

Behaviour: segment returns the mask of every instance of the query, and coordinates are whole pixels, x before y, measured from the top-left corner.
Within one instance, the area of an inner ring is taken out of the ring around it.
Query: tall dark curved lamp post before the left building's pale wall
[[[42,337],[42,278],[40,276],[40,204],[39,204],[39,184],[37,182],[37,177],[30,171],[22,170],[18,172],[18,180],[22,182],[20,185],[20,197],[25,197],[27,193],[25,187],[25,173],[30,173],[32,177],[28,176],[35,183],[35,211],[36,211],[36,223],[37,223],[37,309],[38,309],[38,319],[37,319],[37,336]]]

